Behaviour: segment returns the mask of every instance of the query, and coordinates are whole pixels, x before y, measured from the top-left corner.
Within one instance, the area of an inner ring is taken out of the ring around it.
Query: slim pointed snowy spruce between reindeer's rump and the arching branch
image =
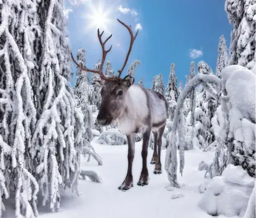
[[[167,87],[165,88],[165,99],[167,102],[170,101],[170,91],[173,90],[175,94],[175,101],[177,101],[179,97],[179,90],[177,88],[177,77],[175,75],[175,64],[172,63],[170,65],[170,75]]]

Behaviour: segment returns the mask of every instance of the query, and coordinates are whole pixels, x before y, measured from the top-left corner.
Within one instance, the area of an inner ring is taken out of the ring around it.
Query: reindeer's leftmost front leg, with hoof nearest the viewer
[[[132,162],[134,161],[134,149],[135,149],[135,133],[127,135],[128,140],[128,169],[126,178],[124,182],[122,182],[121,186],[118,187],[119,190],[126,191],[133,187],[133,179],[132,179]]]

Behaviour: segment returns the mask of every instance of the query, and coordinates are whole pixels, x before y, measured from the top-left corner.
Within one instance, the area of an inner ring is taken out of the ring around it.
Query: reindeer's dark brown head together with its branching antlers
[[[124,67],[126,67],[127,61],[129,59],[130,51],[132,50],[132,45],[134,44],[134,40],[137,37],[137,34],[139,30],[137,30],[135,36],[132,33],[132,27],[127,26],[124,22],[119,21],[123,26],[127,28],[127,30],[130,33],[130,47],[126,55],[126,60],[124,61],[124,64],[122,66],[121,70],[118,70],[119,75],[117,77],[108,78],[105,77],[105,75],[102,73],[102,68],[106,59],[106,55],[108,52],[111,51],[112,45],[109,50],[105,50],[105,44],[107,40],[109,40],[112,37],[107,37],[107,39],[102,42],[102,34],[104,31],[99,34],[99,29],[97,30],[98,39],[101,43],[102,48],[102,60],[101,60],[101,66],[99,70],[91,70],[87,69],[86,67],[79,65],[76,60],[74,60],[74,57],[71,54],[72,60],[74,63],[79,67],[81,70],[85,70],[87,72],[92,73],[98,73],[101,77],[101,80],[97,81],[99,85],[101,85],[101,97],[102,102],[99,108],[99,114],[97,116],[97,123],[99,125],[105,126],[111,124],[112,120],[116,120],[116,118],[121,115],[121,113],[125,110],[126,107],[126,94],[129,87],[134,83],[134,78],[127,75],[124,78],[120,78],[122,71],[124,70]]]

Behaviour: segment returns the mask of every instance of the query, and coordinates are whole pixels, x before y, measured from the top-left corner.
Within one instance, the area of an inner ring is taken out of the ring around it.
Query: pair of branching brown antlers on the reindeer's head
[[[99,34],[99,29],[97,30],[98,39],[99,39],[99,42],[101,44],[101,49],[102,49],[102,59],[101,59],[101,66],[100,66],[99,70],[91,70],[91,69],[88,69],[88,68],[86,68],[82,65],[79,65],[76,62],[76,60],[74,59],[74,57],[71,53],[71,58],[74,61],[74,63],[77,65],[77,67],[79,67],[81,70],[85,70],[87,72],[97,73],[102,78],[102,80],[106,80],[106,81],[120,80],[120,76],[122,74],[122,71],[124,70],[124,67],[126,67],[127,61],[129,59],[130,51],[132,50],[132,45],[134,44],[134,40],[136,39],[137,34],[139,32],[139,29],[138,29],[135,36],[134,36],[134,34],[132,33],[132,27],[131,26],[127,26],[124,22],[120,21],[119,19],[117,19],[117,21],[120,22],[123,26],[125,26],[128,29],[129,33],[130,33],[130,47],[129,47],[128,53],[126,55],[126,60],[124,61],[124,65],[122,65],[122,69],[117,71],[117,72],[119,72],[118,77],[107,78],[107,77],[105,77],[104,73],[102,73],[102,69],[103,69],[104,62],[106,60],[107,53],[109,53],[112,49],[112,45],[111,45],[109,50],[105,50],[105,44],[106,44],[107,40],[109,40],[112,37],[112,34],[111,34],[111,36],[107,37],[107,39],[104,42],[102,42],[102,35],[103,35],[104,31],[102,31],[102,33]]]

